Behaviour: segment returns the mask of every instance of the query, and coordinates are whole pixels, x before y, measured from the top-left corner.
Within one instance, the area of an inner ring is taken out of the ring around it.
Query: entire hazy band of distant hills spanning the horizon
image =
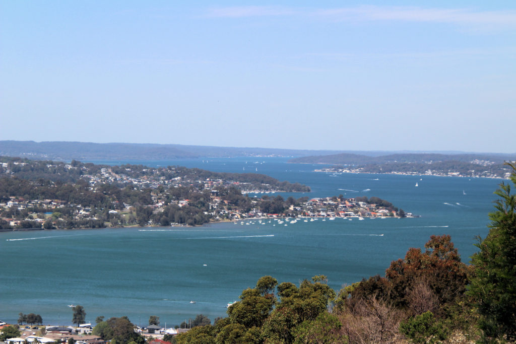
[[[443,154],[444,153],[444,154]],[[157,143],[93,143],[67,141],[0,141],[0,156],[18,156],[30,159],[61,161],[81,160],[171,160],[180,158],[215,158],[237,156],[300,157],[289,162],[327,163],[337,165],[363,165],[389,161],[424,162],[443,158],[485,159],[503,162],[516,154],[426,152],[414,151],[349,151],[349,150],[294,150],[273,148],[237,148],[184,144]]]

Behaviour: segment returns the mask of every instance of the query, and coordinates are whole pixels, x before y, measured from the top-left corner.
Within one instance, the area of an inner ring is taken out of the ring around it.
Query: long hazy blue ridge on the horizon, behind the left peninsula
[[[234,148],[154,143],[0,141],[0,155],[63,161],[71,161],[72,159],[83,161],[168,160],[198,157],[302,156],[327,155],[336,152],[339,151]]]

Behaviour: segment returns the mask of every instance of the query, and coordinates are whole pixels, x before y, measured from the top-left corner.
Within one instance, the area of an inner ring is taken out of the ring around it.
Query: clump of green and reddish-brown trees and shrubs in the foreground
[[[426,250],[410,249],[386,277],[343,288],[338,296],[326,276],[298,286],[263,276],[228,308],[228,317],[176,336],[178,343],[415,343],[440,342],[464,321],[469,268],[450,237],[432,236]],[[460,309],[460,312],[459,312]]]

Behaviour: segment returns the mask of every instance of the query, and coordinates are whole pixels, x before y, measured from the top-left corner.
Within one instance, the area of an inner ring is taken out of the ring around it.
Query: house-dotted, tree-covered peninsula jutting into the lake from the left
[[[253,173],[0,157],[0,229],[202,225],[248,218],[411,216],[388,201],[310,192]],[[261,198],[249,193],[259,190]],[[307,220],[308,221],[308,220]]]

